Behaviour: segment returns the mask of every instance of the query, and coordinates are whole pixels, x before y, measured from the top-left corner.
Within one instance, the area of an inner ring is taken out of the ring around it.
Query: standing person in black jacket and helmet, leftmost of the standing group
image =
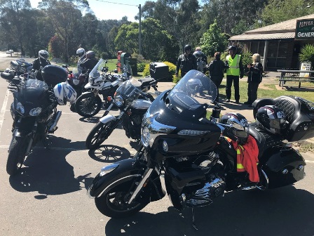
[[[179,70],[181,70],[181,77],[189,72],[189,70],[197,70],[197,60],[196,56],[191,53],[191,45],[184,46],[184,53],[179,55],[177,60],[177,70],[175,76],[178,76]]]

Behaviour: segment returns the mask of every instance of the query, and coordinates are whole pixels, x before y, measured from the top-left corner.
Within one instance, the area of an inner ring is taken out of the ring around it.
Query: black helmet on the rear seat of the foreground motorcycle
[[[274,105],[260,107],[256,114],[257,125],[270,133],[282,134],[288,122],[285,113]]]

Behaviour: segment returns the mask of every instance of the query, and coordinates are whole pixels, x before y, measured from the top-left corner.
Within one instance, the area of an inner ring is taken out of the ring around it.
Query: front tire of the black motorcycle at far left
[[[6,172],[13,176],[21,169],[25,161],[28,140],[23,137],[14,137],[8,150],[8,161],[6,162]]]

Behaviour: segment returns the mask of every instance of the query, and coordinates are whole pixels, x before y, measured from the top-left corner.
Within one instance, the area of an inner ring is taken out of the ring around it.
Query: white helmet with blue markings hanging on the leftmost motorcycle
[[[76,100],[76,91],[71,85],[65,82],[56,84],[53,88],[53,92],[55,93],[55,98],[57,98],[59,105],[66,105],[67,101],[74,103]]]

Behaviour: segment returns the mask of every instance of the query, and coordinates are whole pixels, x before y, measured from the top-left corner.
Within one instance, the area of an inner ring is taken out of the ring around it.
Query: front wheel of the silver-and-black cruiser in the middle
[[[106,140],[116,128],[116,121],[107,122],[106,124],[98,122],[94,128],[88,133],[85,141],[87,149],[96,149],[104,140]]]

